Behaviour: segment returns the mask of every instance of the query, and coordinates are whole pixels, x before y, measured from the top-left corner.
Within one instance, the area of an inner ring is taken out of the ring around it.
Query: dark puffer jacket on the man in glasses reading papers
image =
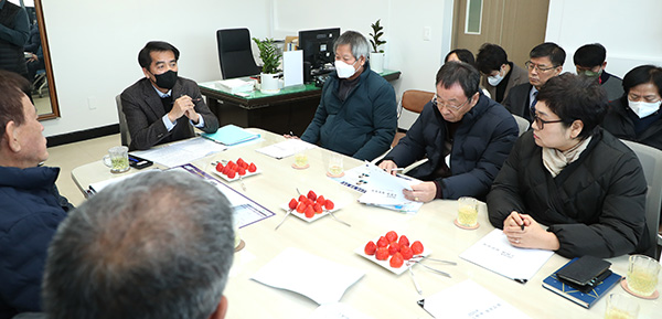
[[[448,123],[431,103],[423,108],[407,135],[384,157],[398,167],[424,158],[428,161],[408,174],[429,181],[444,161]],[[517,124],[500,104],[480,95],[480,99],[462,117],[450,151],[451,177],[437,180],[444,199],[473,196],[483,200],[517,139]]]

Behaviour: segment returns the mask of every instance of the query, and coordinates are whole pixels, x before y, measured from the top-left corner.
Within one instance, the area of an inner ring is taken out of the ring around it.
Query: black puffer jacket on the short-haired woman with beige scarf
[[[613,257],[643,252],[650,244],[645,192],[637,155],[604,129],[556,178],[543,166],[542,148],[527,131],[494,180],[488,212],[498,228],[512,211],[548,225],[562,256]]]

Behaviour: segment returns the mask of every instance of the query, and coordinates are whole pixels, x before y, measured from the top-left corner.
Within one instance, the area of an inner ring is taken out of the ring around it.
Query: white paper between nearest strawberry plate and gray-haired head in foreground
[[[301,294],[323,305],[338,302],[363,275],[360,269],[288,247],[257,270],[252,279]]]

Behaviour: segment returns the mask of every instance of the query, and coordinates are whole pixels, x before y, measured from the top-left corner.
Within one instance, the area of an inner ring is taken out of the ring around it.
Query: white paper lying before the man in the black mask
[[[196,137],[148,150],[131,151],[132,155],[172,168],[192,162],[207,155],[226,150],[227,147]]]

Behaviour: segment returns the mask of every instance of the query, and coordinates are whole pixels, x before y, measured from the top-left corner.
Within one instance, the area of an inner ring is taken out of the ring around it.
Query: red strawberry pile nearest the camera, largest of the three
[[[381,236],[376,244],[373,241],[367,242],[363,252],[370,256],[375,255],[377,260],[386,260],[391,256],[391,260],[388,260],[391,267],[399,268],[405,260],[423,253],[423,244],[416,241],[409,245],[407,236],[402,235],[398,240],[397,233],[391,231]]]

